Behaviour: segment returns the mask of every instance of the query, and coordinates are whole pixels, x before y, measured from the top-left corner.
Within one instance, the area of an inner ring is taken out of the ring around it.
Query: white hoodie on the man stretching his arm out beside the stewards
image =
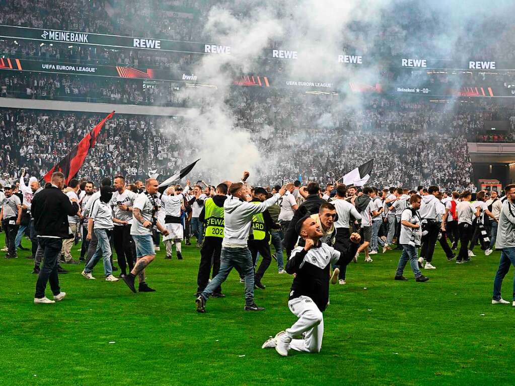
[[[277,193],[268,200],[256,204],[227,197],[224,202],[224,241],[222,247],[246,248],[252,226],[252,216],[265,212],[277,203],[281,195]]]

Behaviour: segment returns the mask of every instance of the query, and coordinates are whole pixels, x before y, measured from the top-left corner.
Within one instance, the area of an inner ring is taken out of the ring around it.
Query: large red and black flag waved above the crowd
[[[65,183],[67,184],[70,182],[70,180],[77,175],[79,169],[84,163],[84,160],[88,155],[88,151],[95,146],[98,134],[102,127],[104,127],[106,120],[112,118],[113,114],[114,111],[102,119],[99,124],[93,128],[93,130],[86,134],[84,138],[82,138],[81,141],[61,161],[59,161],[57,165],[45,174],[43,180],[45,180],[45,182],[50,182],[52,179],[52,173],[60,171],[64,174]]]

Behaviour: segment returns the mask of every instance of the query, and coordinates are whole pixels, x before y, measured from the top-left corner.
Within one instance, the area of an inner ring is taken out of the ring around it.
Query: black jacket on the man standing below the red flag
[[[79,205],[70,202],[70,199],[54,186],[41,190],[32,198],[31,213],[38,236],[68,238],[68,216],[75,216],[78,211]]]

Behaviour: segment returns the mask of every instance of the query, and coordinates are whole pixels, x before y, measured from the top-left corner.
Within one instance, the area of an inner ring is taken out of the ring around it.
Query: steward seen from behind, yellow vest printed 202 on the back
[[[200,250],[200,265],[197,275],[198,296],[208,285],[211,266],[213,276],[218,274],[220,269],[220,254],[222,250],[222,239],[224,239],[224,201],[227,199],[227,185],[219,184],[216,187],[216,196],[205,200],[199,220],[204,223],[204,242]],[[218,287],[211,297],[225,297]]]

